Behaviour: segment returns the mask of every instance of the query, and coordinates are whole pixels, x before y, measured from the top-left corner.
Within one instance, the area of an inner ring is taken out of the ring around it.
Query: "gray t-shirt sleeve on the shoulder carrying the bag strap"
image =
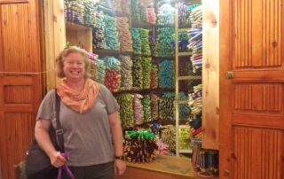
[[[45,97],[41,105],[39,106],[36,121],[39,119],[52,120],[54,118],[54,101],[55,101],[55,90],[50,90]]]

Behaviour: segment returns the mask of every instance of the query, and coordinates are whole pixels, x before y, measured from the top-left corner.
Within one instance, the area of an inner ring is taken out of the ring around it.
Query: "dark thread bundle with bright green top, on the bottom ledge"
[[[127,131],[124,156],[129,162],[151,162],[155,160],[155,136],[149,130]]]

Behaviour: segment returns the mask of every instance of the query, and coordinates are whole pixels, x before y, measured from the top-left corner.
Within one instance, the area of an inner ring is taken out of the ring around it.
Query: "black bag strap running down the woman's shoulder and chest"
[[[59,151],[63,153],[65,151],[64,149],[64,138],[63,138],[63,129],[61,128],[61,123],[59,119],[59,113],[60,113],[60,97],[57,94],[57,90],[55,89],[55,109],[56,109],[56,126],[55,128],[55,134],[57,139],[57,144],[59,145]]]

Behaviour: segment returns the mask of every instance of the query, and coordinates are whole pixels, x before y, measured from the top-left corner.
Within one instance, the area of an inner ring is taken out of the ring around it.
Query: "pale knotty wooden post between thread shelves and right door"
[[[202,147],[219,144],[219,0],[203,0]]]

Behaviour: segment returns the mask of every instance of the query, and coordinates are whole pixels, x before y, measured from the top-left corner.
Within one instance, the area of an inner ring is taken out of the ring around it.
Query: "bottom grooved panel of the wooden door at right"
[[[235,126],[233,136],[235,179],[280,178],[283,130]]]

